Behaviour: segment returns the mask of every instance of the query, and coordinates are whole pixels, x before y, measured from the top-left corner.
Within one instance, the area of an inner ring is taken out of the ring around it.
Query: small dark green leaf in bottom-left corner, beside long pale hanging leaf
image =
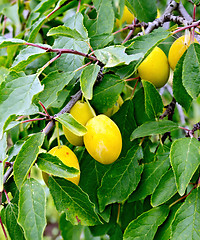
[[[17,222],[18,206],[16,204],[8,204],[1,212],[2,221],[8,230],[11,239],[25,240],[24,232]]]

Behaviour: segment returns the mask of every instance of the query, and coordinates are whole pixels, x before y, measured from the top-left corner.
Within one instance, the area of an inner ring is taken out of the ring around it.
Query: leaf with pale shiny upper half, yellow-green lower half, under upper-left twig
[[[33,62],[35,59],[45,53],[46,51],[41,48],[27,47],[21,50],[20,53],[17,55],[15,61],[13,62],[11,70],[15,70],[17,72],[22,71],[29,63]]]

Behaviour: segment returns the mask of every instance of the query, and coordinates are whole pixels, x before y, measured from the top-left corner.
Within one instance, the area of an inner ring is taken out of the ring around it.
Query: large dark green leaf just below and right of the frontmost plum
[[[98,189],[101,212],[108,204],[125,201],[136,189],[143,170],[138,163],[142,156],[142,148],[135,144],[126,157],[120,158],[106,172]]]

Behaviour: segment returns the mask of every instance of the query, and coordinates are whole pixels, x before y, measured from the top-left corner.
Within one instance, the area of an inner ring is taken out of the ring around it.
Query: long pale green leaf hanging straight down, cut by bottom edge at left
[[[19,193],[18,222],[28,240],[42,240],[46,226],[46,197],[42,185],[27,179]]]

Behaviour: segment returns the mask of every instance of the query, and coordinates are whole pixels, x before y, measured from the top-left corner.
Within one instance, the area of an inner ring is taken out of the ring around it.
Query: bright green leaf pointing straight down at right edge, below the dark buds
[[[195,138],[180,138],[171,146],[170,161],[181,196],[200,164],[199,150],[200,143]]]

